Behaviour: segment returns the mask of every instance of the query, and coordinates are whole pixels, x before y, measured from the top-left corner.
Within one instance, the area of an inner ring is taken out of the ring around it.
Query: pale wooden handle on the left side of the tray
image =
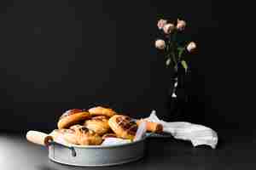
[[[49,134],[33,130],[26,133],[26,139],[34,144],[40,144],[44,146],[48,146],[49,142],[53,141],[53,137]]]

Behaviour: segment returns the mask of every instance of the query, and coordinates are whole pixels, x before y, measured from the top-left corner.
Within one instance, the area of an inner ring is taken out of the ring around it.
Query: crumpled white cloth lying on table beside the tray
[[[171,133],[175,139],[189,140],[194,147],[207,144],[215,149],[218,144],[218,134],[210,127],[190,122],[165,122],[156,116],[155,111],[145,120],[161,123],[164,132]]]

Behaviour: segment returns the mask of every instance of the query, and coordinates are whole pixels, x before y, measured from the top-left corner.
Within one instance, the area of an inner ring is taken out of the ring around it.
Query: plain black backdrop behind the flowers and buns
[[[160,16],[186,20],[198,44],[183,121],[253,127],[252,11],[210,0],[2,0],[0,129],[53,129],[63,111],[94,105],[172,120],[172,72],[154,48]]]

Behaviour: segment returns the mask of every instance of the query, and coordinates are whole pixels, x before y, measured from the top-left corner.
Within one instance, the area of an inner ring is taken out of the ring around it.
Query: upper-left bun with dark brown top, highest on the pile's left
[[[68,128],[78,122],[90,118],[90,113],[79,109],[68,110],[62,114],[58,122],[58,128]]]

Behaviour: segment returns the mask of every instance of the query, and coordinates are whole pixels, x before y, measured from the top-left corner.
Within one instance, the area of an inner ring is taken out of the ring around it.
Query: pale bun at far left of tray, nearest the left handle
[[[76,133],[72,129],[55,129],[53,132],[49,133],[54,140],[64,139],[69,144],[78,144]]]

